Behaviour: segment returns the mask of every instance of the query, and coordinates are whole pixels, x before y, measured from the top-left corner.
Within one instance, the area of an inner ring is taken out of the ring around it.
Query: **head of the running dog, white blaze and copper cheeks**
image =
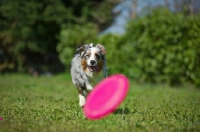
[[[83,45],[78,47],[77,51],[81,56],[81,66],[84,71],[99,72],[102,70],[106,55],[106,49],[103,45]]]

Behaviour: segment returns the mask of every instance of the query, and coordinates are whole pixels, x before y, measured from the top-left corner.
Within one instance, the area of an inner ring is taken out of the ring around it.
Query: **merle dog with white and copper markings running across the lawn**
[[[79,94],[79,105],[84,107],[86,97],[93,86],[107,77],[106,49],[103,45],[93,43],[78,47],[71,62],[72,82]]]

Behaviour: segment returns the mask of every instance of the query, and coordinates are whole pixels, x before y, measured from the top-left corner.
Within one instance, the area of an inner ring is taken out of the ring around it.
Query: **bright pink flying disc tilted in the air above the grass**
[[[86,99],[83,108],[85,116],[95,120],[112,113],[125,99],[128,89],[128,78],[122,74],[102,80]]]

